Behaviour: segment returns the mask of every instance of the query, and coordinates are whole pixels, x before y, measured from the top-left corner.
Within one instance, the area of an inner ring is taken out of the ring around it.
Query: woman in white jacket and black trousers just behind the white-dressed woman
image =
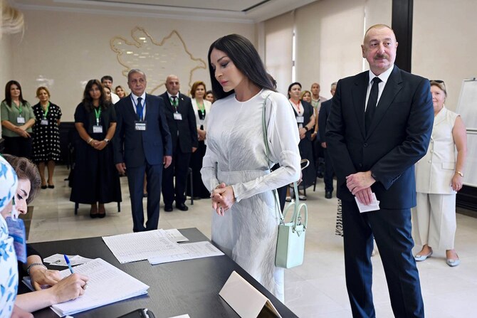
[[[212,104],[209,100],[204,98],[206,95],[206,88],[205,83],[202,81],[192,84],[191,95],[192,107],[194,108],[194,114],[196,115],[197,135],[199,137],[199,147],[197,147],[196,152],[192,153],[189,164],[192,168],[194,198],[209,198],[209,191],[202,183],[200,169],[202,169],[202,159],[204,159],[206,150],[206,145],[204,143],[207,130],[206,117]],[[187,184],[186,193],[188,196],[191,196],[190,183]]]

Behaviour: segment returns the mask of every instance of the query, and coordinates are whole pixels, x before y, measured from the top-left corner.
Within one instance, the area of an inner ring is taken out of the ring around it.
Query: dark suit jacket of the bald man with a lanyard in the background
[[[199,146],[199,139],[197,139],[197,126],[196,116],[194,114],[194,108],[192,107],[192,101],[189,97],[179,93],[179,105],[177,106],[177,112],[181,113],[182,120],[174,120],[175,108],[172,106],[169,100],[167,92],[159,95],[166,104],[166,117],[167,124],[172,136],[172,147],[175,152],[177,147],[177,132],[179,132],[179,147],[181,152],[187,154],[192,152],[192,147]]]

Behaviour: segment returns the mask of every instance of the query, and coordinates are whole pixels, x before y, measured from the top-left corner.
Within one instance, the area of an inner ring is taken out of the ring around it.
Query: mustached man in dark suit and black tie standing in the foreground
[[[429,80],[394,65],[397,41],[389,26],[368,29],[362,56],[369,71],[337,83],[326,144],[342,200],[346,285],[353,317],[375,317],[373,235],[395,317],[424,317],[412,255],[414,164],[426,154],[434,112]],[[377,78],[377,79],[376,79]],[[376,211],[360,213],[357,201]],[[355,201],[355,198],[357,199]]]

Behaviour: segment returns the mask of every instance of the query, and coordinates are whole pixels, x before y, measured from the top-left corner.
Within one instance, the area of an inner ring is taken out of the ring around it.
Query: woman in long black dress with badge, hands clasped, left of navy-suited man
[[[75,127],[80,139],[75,144],[70,201],[90,204],[90,217],[104,218],[105,203],[121,201],[121,186],[110,144],[116,129],[116,113],[99,80],[86,84],[83,102],[76,107]]]

